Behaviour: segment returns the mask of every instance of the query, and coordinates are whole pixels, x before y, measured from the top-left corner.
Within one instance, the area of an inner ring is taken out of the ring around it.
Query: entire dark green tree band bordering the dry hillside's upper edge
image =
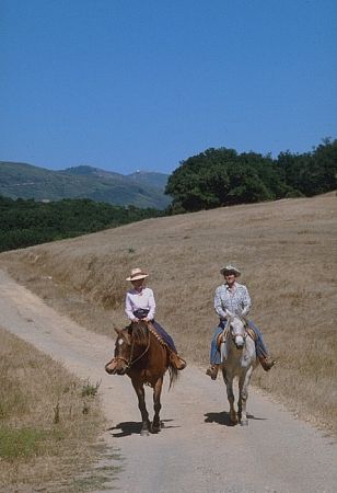
[[[337,188],[337,140],[312,152],[277,159],[234,149],[207,149],[182,161],[168,177],[165,210],[116,206],[88,198],[42,203],[0,196],[0,252],[78,237],[147,218],[201,209],[313,196]]]

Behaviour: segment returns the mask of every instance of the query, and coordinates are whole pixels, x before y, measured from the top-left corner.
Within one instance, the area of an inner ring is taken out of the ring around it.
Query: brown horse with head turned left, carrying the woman
[[[168,349],[160,342],[151,323],[132,322],[125,329],[115,331],[117,332],[115,357],[105,365],[105,370],[109,375],[130,377],[141,413],[141,435],[149,435],[149,431],[158,433],[161,429],[160,410],[164,375],[168,369],[171,388],[178,377],[177,369],[171,363]],[[144,385],[153,389],[152,426],[146,405]]]

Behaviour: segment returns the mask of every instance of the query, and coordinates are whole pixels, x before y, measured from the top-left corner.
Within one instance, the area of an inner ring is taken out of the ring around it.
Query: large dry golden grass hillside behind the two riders
[[[151,274],[156,319],[182,355],[206,368],[219,270],[234,263],[278,360],[269,374],[256,370],[253,385],[336,432],[336,194],[327,194],[149,219],[3,253],[0,267],[114,340],[113,323],[126,323],[125,278],[141,266]]]

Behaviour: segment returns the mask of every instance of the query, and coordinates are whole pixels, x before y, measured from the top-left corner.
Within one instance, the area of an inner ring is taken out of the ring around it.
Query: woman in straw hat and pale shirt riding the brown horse
[[[185,368],[186,362],[178,356],[173,339],[154,320],[155,301],[153,290],[144,286],[144,279],[148,275],[137,267],[132,268],[130,276],[126,278],[126,280],[131,282],[133,287],[126,294],[125,312],[132,322],[139,322],[140,320],[150,322],[161,342],[166,345],[171,362],[178,370],[182,370]]]

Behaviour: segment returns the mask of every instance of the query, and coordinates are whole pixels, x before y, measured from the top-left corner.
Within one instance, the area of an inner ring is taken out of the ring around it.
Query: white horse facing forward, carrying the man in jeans
[[[253,334],[252,334],[253,335]],[[239,317],[229,318],[222,334],[220,345],[222,375],[226,386],[226,395],[230,403],[230,417],[232,423],[242,426],[248,424],[246,403],[248,386],[254,368],[257,366],[255,342],[249,335],[246,324]],[[234,406],[233,380],[239,379],[237,413]]]

